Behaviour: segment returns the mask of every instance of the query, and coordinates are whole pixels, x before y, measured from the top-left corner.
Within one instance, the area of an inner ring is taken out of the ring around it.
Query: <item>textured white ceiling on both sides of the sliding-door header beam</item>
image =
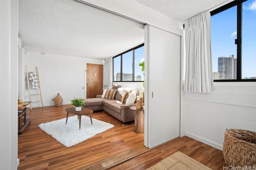
[[[135,1],[183,22],[226,0]],[[18,15],[28,51],[105,59],[144,42],[144,25],[73,0],[19,0]]]

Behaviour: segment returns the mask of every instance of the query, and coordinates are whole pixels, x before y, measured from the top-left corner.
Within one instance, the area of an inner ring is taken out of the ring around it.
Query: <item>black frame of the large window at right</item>
[[[210,12],[211,16],[214,16],[215,14],[218,14],[220,12],[223,12],[225,10],[228,10],[229,8],[232,8],[234,6],[237,6],[237,41],[236,46],[236,79],[225,79],[225,80],[214,80],[214,82],[256,82],[256,79],[242,79],[242,3],[246,2],[247,0],[235,0],[233,2],[230,2],[220,8],[217,8],[216,10],[212,10]]]

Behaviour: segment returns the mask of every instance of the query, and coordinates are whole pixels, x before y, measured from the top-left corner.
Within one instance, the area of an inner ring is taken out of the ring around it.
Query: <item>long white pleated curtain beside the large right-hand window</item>
[[[186,92],[213,90],[210,11],[185,21]]]

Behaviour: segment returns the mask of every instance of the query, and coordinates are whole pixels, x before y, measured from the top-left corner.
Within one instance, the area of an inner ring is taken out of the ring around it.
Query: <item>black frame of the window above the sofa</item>
[[[142,44],[140,44],[140,45],[138,45],[138,46],[136,46],[136,47],[133,47],[132,49],[129,49],[129,50],[127,50],[127,51],[124,51],[123,53],[120,53],[120,54],[118,54],[118,55],[112,57],[112,62],[113,62],[113,67],[112,67],[113,82],[144,82],[144,81],[134,81],[135,50],[138,49],[138,48],[140,48],[140,47],[144,47],[144,43],[142,43]],[[126,53],[129,53],[130,51],[132,51],[132,81],[123,81],[123,80],[122,80],[122,79],[123,79],[123,76],[122,76],[122,74],[123,74],[123,68],[122,68],[122,65],[123,65],[123,55],[126,54]],[[121,79],[121,80],[120,80],[120,81],[114,81],[114,58],[119,57],[119,56],[121,56],[121,73],[120,73],[120,74],[121,74],[121,75],[120,75],[120,79]]]

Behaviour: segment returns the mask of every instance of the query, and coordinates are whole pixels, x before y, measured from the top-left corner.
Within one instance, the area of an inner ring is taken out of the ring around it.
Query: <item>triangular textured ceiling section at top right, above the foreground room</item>
[[[227,0],[135,0],[177,21],[184,22]]]

